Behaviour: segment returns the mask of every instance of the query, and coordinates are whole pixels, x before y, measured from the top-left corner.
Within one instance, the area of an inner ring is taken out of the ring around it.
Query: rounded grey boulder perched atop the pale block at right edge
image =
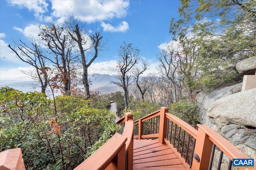
[[[254,75],[256,71],[256,56],[238,62],[236,70],[243,75]]]

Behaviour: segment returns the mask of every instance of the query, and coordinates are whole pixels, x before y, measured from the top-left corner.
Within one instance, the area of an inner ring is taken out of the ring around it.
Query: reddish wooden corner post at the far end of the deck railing
[[[166,138],[166,129],[167,129],[167,118],[165,113],[168,112],[167,107],[161,107],[160,109],[160,121],[159,121],[159,143],[164,143],[164,138]]]

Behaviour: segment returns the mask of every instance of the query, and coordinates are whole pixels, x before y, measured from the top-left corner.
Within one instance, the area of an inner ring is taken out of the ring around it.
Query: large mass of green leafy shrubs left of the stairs
[[[116,132],[114,121],[81,98],[0,88],[0,151],[22,148],[27,169],[74,169]]]

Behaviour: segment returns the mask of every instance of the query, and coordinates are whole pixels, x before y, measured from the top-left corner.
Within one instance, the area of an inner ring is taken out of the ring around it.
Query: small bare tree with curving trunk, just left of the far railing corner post
[[[147,80],[146,78],[142,78],[143,81],[140,81],[140,75],[143,74],[144,71],[146,71],[146,69],[148,68],[148,64],[144,61],[142,63],[143,63],[142,69],[137,66],[133,70],[133,75],[136,80],[136,85],[137,85],[138,89],[140,90],[142,101],[144,102],[144,95],[146,93],[146,90],[149,88],[149,86],[146,82],[146,80]]]

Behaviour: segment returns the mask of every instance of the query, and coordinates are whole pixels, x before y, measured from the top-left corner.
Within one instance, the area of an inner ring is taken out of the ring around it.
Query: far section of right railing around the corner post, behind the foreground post
[[[135,139],[158,138],[161,144],[166,143],[176,150],[176,155],[186,168],[192,166],[196,137],[196,129],[168,113],[167,107],[161,107],[160,110],[134,121]]]

